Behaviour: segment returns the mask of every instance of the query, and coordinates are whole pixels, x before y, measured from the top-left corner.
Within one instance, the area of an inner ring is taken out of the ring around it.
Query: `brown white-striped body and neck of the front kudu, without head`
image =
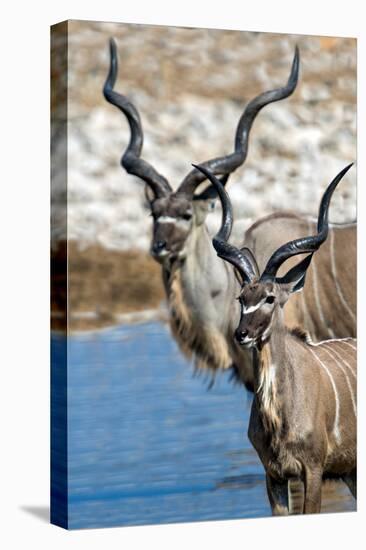
[[[273,513],[289,512],[293,478],[304,483],[301,511],[314,513],[324,478],[342,479],[356,498],[356,340],[314,345],[278,319],[270,341],[254,352],[249,438],[266,470]]]

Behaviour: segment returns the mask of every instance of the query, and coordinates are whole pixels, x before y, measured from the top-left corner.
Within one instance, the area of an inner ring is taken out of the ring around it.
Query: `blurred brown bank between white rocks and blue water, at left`
[[[65,330],[66,244],[51,257],[52,328]],[[107,250],[93,245],[81,250],[68,247],[69,329],[84,330],[115,323],[116,315],[156,309],[164,299],[159,265],[140,251]],[[79,318],[75,314],[95,313]],[[55,315],[56,314],[56,315]]]

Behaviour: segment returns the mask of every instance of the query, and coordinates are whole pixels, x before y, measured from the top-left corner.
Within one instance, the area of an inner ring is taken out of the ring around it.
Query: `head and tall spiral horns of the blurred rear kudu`
[[[106,100],[125,115],[131,131],[121,164],[129,174],[138,176],[146,183],[146,196],[153,216],[152,256],[161,263],[172,264],[177,259],[184,259],[188,236],[195,226],[204,223],[212,200],[217,196],[216,189],[210,186],[200,194],[195,194],[198,185],[206,177],[199,170],[193,169],[173,191],[167,179],[141,158],[143,131],[140,116],[136,107],[125,96],[114,91],[117,72],[116,44],[111,39],[110,67],[103,93]],[[219,175],[223,185],[229,175],[245,162],[249,133],[255,117],[265,105],[292,94],[296,88],[298,72],[299,52],[296,47],[286,86],[258,95],[245,108],[236,129],[234,152],[202,164],[213,174]]]

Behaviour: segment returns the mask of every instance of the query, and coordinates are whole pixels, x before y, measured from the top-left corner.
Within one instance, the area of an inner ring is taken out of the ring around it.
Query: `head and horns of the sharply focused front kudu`
[[[290,295],[301,291],[306,271],[313,254],[328,235],[328,210],[331,197],[338,183],[351,168],[346,166],[329,184],[320,202],[317,234],[295,239],[280,246],[260,274],[256,259],[248,248],[239,249],[228,243],[233,224],[232,206],[221,182],[203,166],[196,166],[215,186],[222,203],[222,224],[213,238],[213,245],[220,258],[230,262],[240,278],[238,297],[241,316],[235,339],[245,347],[260,349],[271,336],[273,318],[278,308],[283,308]],[[307,256],[282,277],[277,277],[281,265],[298,254]]]

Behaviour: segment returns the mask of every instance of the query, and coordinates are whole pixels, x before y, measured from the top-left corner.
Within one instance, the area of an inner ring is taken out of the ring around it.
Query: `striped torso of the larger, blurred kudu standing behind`
[[[316,220],[293,213],[276,213],[260,219],[245,234],[263,270],[267,259],[283,242],[312,235]],[[357,224],[329,224],[329,237],[308,269],[306,286],[285,309],[288,327],[301,326],[314,340],[356,337]],[[293,264],[289,259],[286,268]],[[348,269],[344,269],[347,263]],[[279,275],[284,273],[284,267]]]

